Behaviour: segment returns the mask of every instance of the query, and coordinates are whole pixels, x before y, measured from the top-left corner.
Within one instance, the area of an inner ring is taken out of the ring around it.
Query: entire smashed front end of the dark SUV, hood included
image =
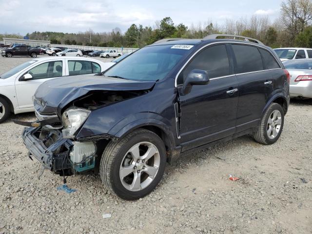
[[[48,80],[34,96],[38,121],[13,121],[29,127],[24,129],[22,139],[30,158],[38,159],[44,169],[60,176],[98,172],[106,144],[118,138],[109,135],[108,130],[95,134],[88,129],[83,137],[78,136],[79,131],[98,109],[147,94],[154,84],[96,76]],[[102,116],[104,112],[100,113]]]

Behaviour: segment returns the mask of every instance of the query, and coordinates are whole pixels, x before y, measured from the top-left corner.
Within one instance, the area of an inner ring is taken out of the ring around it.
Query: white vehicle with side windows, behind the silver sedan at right
[[[282,62],[292,59],[311,59],[312,49],[309,48],[278,48],[275,53]]]

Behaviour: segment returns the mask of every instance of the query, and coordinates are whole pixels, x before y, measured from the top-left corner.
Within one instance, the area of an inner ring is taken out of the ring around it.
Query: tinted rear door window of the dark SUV
[[[248,45],[232,45],[236,59],[236,73],[262,71],[263,63],[258,49]]]

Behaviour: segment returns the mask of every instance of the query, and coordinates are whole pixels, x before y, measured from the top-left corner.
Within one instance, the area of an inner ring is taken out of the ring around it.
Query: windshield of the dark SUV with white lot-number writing
[[[176,49],[174,45],[144,47],[122,59],[105,72],[104,76],[142,81],[160,80],[167,76],[187,52],[187,49]]]

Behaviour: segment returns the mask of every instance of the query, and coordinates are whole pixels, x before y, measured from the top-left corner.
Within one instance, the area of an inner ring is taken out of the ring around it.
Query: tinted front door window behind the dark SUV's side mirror
[[[180,74],[177,84],[182,84],[194,69],[207,71],[209,78],[230,75],[229,58],[225,45],[215,45],[199,52],[186,66],[183,74]]]

